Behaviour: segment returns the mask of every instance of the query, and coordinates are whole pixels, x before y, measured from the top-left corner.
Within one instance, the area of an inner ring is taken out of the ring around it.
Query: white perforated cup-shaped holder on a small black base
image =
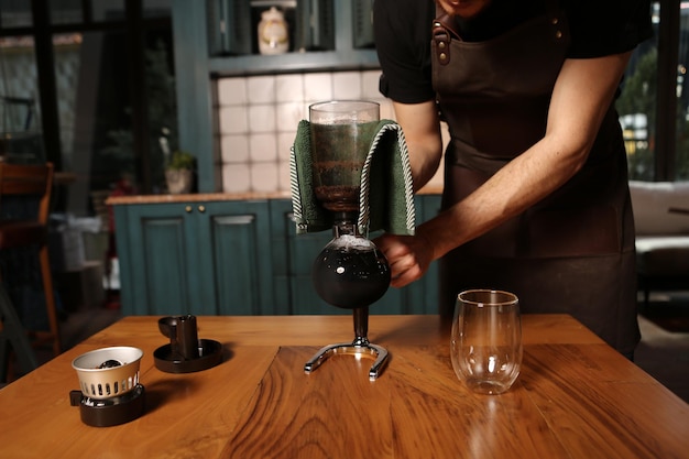
[[[143,351],[132,347],[112,347],[86,352],[72,362],[77,371],[79,387],[86,397],[111,398],[121,396],[139,384],[139,367]],[[114,360],[117,367],[100,368]]]

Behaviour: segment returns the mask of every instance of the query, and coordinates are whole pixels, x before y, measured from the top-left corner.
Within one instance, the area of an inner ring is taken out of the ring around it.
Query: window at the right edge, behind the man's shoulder
[[[616,107],[630,178],[689,181],[689,2],[653,2],[655,36],[634,52]]]

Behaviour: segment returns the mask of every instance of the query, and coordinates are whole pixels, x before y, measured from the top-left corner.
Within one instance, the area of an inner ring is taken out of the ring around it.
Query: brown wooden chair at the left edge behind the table
[[[48,330],[28,330],[28,334],[34,348],[47,343],[52,346],[53,353],[58,356],[62,348],[47,247],[53,172],[51,163],[26,165],[0,162],[0,212],[2,214],[0,219],[0,251],[32,249],[34,247],[37,249]],[[34,203],[37,211],[33,211],[34,208],[29,206],[32,209],[31,215],[8,216],[6,206],[11,199],[26,199],[29,203]],[[0,302],[3,303],[2,309],[7,312],[8,307],[12,305],[8,305],[10,299],[6,286],[0,283],[0,287],[3,289],[0,294]],[[3,327],[9,326],[12,326],[12,323],[4,320]],[[8,335],[17,336],[15,332]],[[18,351],[18,349],[14,350]],[[21,356],[18,357],[21,358]]]

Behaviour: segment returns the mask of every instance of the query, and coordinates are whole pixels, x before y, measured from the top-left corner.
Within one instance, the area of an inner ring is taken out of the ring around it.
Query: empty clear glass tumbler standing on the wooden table
[[[522,367],[522,319],[516,295],[471,289],[457,297],[450,341],[452,368],[467,386],[501,394]]]

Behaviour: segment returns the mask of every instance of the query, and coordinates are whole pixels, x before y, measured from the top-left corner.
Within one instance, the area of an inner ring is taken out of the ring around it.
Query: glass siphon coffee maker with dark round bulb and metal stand
[[[380,106],[360,100],[326,101],[309,107],[314,194],[332,217],[332,240],[314,261],[316,292],[328,304],[352,309],[352,342],[321,348],[304,367],[316,370],[335,353],[375,357],[369,378],[375,380],[387,351],[368,339],[369,306],[390,286],[387,260],[360,232],[361,175],[380,119]]]

